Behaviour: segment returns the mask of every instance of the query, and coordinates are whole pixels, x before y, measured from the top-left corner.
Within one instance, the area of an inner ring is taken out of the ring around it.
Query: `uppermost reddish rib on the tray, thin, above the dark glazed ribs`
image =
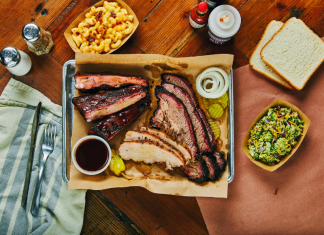
[[[75,88],[80,91],[89,91],[93,89],[108,90],[127,85],[148,86],[145,79],[141,77],[121,76],[121,75],[100,75],[100,74],[75,74]]]

